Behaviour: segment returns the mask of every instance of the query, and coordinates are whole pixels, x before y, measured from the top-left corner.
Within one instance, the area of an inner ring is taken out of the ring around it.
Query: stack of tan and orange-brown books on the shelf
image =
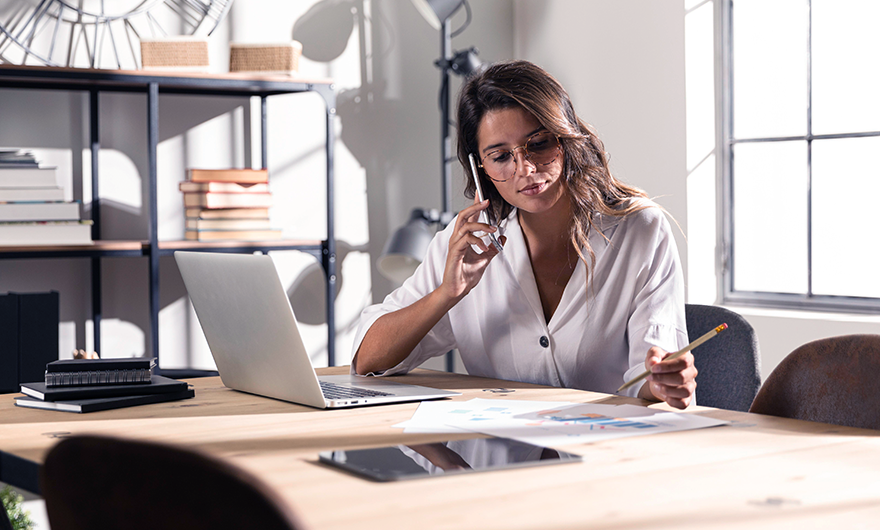
[[[272,195],[265,169],[190,169],[180,191],[186,207],[186,239],[281,239],[281,230],[269,224]]]

